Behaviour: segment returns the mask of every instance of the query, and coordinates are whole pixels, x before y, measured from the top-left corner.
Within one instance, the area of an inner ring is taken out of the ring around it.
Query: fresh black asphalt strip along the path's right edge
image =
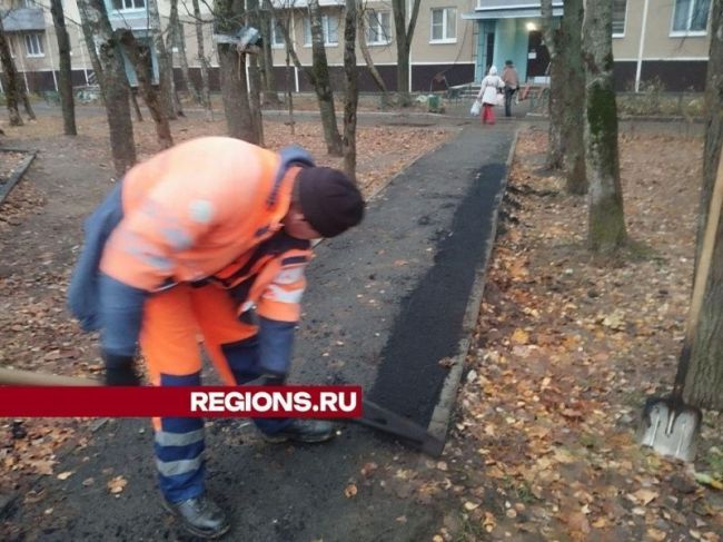
[[[444,358],[458,354],[463,318],[477,269],[486,266],[486,246],[494,230],[497,195],[505,164],[488,164],[475,175],[438,239],[434,266],[402,302],[382,352],[372,401],[427,426],[448,368]]]

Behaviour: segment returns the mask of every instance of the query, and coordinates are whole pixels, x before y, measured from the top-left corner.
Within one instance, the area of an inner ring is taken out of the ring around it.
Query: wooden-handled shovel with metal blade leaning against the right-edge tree
[[[723,203],[723,158],[719,162],[711,208],[703,236],[703,247],[695,272],[693,283],[693,298],[687,316],[687,327],[683,349],[677,362],[677,372],[673,383],[673,393],[667,397],[648,397],[643,408],[642,423],[638,431],[638,442],[643,446],[651,446],[661,455],[671,455],[683,461],[695,460],[696,435],[701,427],[702,413],[700,408],[685,404],[683,401],[683,386],[691,361],[691,348],[695,338],[697,321],[703,305],[703,295],[707,283],[715,231],[721,218],[721,204]]]

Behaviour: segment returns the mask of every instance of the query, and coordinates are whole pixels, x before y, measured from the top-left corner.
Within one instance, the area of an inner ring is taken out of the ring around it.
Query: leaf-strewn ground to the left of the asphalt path
[[[6,145],[39,149],[39,154],[0,207],[0,366],[100,374],[96,337],[80,332],[65,309],[65,297],[82,219],[109,190],[113,174],[105,118],[86,111],[78,121],[77,138],[60,136],[57,114],[42,115],[23,127],[3,127]],[[225,121],[195,118],[174,121],[171,128],[177,142],[226,131]],[[152,124],[136,124],[135,130],[139,159],[145,159],[157,150]],[[377,191],[453,132],[438,127],[360,127],[363,191]],[[310,150],[320,165],[341,165],[340,158],[326,156],[318,122],[298,122],[295,135],[281,122],[267,122],[265,135],[269,148],[296,144]],[[83,420],[0,420],[0,496],[26,487],[37,475],[57,476],[57,454],[63,445],[82,445],[88,425]]]

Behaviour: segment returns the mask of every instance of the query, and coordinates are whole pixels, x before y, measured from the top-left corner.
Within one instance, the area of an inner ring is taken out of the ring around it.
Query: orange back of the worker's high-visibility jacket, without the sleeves
[[[295,170],[276,179],[279,165],[270,150],[209,137],[136,166],[101,270],[147,292],[221,270],[281,228]]]

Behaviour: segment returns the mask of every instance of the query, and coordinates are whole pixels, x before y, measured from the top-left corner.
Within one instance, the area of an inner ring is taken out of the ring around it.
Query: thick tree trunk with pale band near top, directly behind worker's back
[[[216,28],[220,35],[234,36],[244,11],[238,0],[216,0]],[[218,43],[218,67],[221,76],[221,97],[226,111],[228,135],[252,144],[258,142],[254,119],[248,105],[246,60],[236,45]]]

